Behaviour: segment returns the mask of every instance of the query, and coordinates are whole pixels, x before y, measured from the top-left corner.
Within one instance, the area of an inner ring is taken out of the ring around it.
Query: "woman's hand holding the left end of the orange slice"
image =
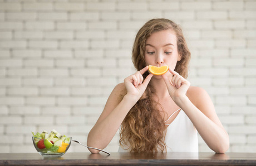
[[[125,82],[125,87],[127,90],[128,96],[131,96],[136,100],[136,102],[140,99],[144,91],[146,90],[147,85],[149,84],[149,81],[151,80],[153,74],[147,75],[146,79],[143,81],[144,72],[149,69],[149,66],[146,66],[145,68],[141,69],[140,71],[135,72],[135,74],[130,75],[127,77]]]

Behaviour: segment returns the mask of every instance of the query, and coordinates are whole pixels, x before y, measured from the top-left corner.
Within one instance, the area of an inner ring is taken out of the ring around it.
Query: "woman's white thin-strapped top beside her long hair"
[[[179,110],[180,112],[174,121],[166,128],[166,152],[198,152],[198,131],[186,113],[181,109]],[[129,152],[129,150],[122,149],[120,146],[118,152]]]

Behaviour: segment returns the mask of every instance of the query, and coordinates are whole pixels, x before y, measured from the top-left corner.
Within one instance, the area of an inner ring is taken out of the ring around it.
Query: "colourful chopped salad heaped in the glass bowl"
[[[32,134],[34,145],[37,151],[41,153],[65,153],[71,142],[70,137],[62,136],[55,129],[50,133],[43,131],[42,133],[37,132],[36,134],[32,132]]]

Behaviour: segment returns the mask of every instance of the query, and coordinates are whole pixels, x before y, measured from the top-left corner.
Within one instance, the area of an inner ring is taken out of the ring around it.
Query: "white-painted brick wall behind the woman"
[[[31,131],[44,129],[86,143],[114,86],[134,72],[137,30],[157,17],[183,27],[188,79],[210,94],[229,152],[256,152],[255,9],[253,0],[1,1],[0,153],[36,152]]]

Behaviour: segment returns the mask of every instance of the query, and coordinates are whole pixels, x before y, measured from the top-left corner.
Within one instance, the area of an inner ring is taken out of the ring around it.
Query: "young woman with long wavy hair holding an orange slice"
[[[225,153],[228,133],[207,92],[186,80],[189,60],[179,25],[149,20],[132,49],[137,72],[112,91],[87,145],[104,149],[121,127],[119,152],[198,152],[199,132],[209,148]],[[168,65],[169,71],[153,75],[148,65]]]

